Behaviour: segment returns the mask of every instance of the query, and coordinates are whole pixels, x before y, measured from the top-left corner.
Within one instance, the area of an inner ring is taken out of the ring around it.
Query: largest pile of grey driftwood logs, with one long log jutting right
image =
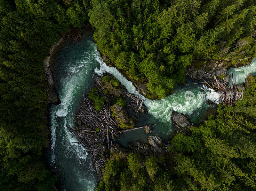
[[[111,103],[110,100],[112,97],[103,94],[97,84],[95,84],[95,86],[98,88],[99,92],[105,96],[106,101],[103,109],[101,111],[96,111],[93,107],[93,102],[83,95],[84,101],[82,101],[77,113],[74,114],[77,126],[74,125],[73,129],[68,126],[67,128],[73,136],[78,139],[77,143],[85,148],[85,152],[90,152],[92,156],[92,164],[95,162],[101,169],[104,168],[106,162],[101,157],[97,157],[98,153],[103,148],[102,145],[107,145],[108,150],[111,150],[112,142],[115,140],[114,137],[118,136],[117,134],[154,125],[145,125],[143,127],[118,131],[118,124],[113,118],[110,110],[109,103]]]

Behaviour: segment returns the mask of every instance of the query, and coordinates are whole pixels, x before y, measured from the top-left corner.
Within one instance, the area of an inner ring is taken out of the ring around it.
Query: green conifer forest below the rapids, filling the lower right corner
[[[176,135],[164,156],[129,154],[110,189],[255,190],[256,95],[248,90],[232,107],[219,105],[216,116],[191,127],[191,135]]]

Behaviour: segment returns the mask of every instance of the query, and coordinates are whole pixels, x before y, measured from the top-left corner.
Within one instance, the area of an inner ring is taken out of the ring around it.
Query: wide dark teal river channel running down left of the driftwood
[[[89,33],[81,44],[73,46],[72,41],[67,42],[54,62],[60,104],[50,107],[51,152],[48,160],[64,191],[93,191],[97,185],[97,175],[90,168],[91,157],[66,127],[73,127],[73,114],[82,94],[93,84],[93,70],[99,66],[96,53],[97,46]]]

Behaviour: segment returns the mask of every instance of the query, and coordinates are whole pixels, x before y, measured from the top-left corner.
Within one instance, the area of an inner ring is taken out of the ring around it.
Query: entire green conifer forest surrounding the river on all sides
[[[1,190],[53,190],[56,176],[42,157],[49,142],[44,59],[61,36],[87,23],[100,52],[145,81],[149,98],[184,84],[195,62],[244,64],[256,54],[254,0],[0,0]],[[97,189],[255,190],[255,85],[246,96],[220,106],[191,136],[176,136],[169,158],[133,154],[107,163]]]

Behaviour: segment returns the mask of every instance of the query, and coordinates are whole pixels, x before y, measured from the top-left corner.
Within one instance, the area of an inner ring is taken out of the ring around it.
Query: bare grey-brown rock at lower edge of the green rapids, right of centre
[[[176,111],[172,112],[172,122],[177,133],[188,133],[193,123],[190,122],[187,114],[179,114]]]

